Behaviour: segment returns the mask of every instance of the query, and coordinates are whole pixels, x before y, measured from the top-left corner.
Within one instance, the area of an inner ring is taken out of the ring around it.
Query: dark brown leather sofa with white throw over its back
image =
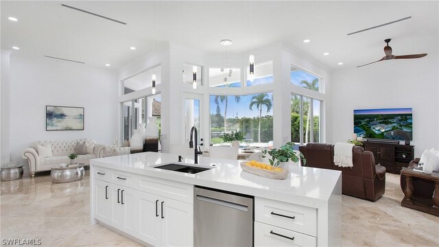
[[[334,165],[334,145],[307,143],[299,151],[305,156],[307,167],[335,169],[342,172],[342,193],[375,202],[385,191],[385,167],[375,165],[372,152],[353,148],[353,167]],[[303,164],[303,162],[302,162]]]

